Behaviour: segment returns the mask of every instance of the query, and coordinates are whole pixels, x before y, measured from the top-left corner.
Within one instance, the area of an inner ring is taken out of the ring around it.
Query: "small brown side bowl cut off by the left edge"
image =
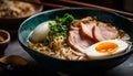
[[[0,30],[0,55],[4,53],[4,50],[9,45],[10,33],[6,30]]]

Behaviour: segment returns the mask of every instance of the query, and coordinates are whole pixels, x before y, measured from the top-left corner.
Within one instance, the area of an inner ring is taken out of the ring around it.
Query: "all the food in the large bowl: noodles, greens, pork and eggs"
[[[92,17],[75,19],[69,13],[40,23],[28,44],[34,51],[69,61],[110,57],[132,45],[123,30]]]

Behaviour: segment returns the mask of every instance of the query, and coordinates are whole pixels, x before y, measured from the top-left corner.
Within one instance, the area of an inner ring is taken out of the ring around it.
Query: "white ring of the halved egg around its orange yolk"
[[[98,46],[99,44],[101,43],[105,43],[105,42],[113,42],[115,44],[117,44],[117,50],[113,53],[101,53],[101,52],[98,52],[95,50],[95,46]],[[95,44],[93,44],[92,46],[88,47],[84,53],[90,57],[90,58],[101,58],[101,57],[105,57],[105,56],[111,56],[113,54],[119,54],[119,53],[122,53],[122,52],[125,52],[126,48],[129,47],[129,44],[122,40],[106,40],[106,41],[101,41],[101,42],[98,42]]]

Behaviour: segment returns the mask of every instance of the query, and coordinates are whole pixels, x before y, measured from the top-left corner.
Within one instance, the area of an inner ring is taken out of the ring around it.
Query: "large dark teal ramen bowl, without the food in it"
[[[111,23],[116,28],[122,29],[124,32],[126,32],[130,35],[132,42],[133,22],[131,22],[125,17],[122,17],[120,14],[99,10],[99,9],[91,9],[91,8],[48,10],[27,19],[20,25],[18,31],[19,43],[25,50],[25,52],[28,52],[39,63],[40,66],[62,73],[71,73],[71,72],[95,73],[101,70],[108,70],[120,65],[121,63],[126,61],[129,56],[133,53],[133,50],[131,47],[130,51],[122,54],[117,54],[109,58],[89,59],[89,61],[68,61],[68,59],[60,59],[42,54],[28,46],[29,35],[35,29],[37,25],[39,25],[44,21],[53,20],[55,15],[62,17],[64,13],[73,14],[73,17],[75,17],[76,19],[81,19],[88,15],[96,17],[98,20],[100,21]]]

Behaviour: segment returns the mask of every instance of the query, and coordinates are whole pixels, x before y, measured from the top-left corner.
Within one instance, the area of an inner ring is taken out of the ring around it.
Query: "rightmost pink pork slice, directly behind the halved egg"
[[[96,41],[114,40],[117,37],[117,34],[119,31],[114,26],[102,22],[99,22],[93,29],[93,36]]]

